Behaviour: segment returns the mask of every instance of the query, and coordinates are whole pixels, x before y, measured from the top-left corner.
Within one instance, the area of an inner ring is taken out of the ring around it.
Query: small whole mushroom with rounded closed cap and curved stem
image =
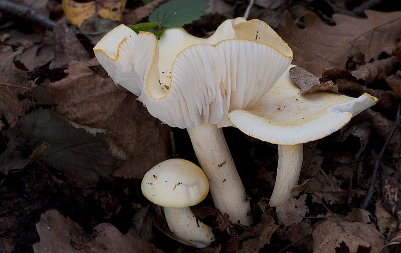
[[[168,227],[178,239],[199,248],[215,240],[212,229],[189,208],[209,192],[208,178],[198,166],[184,159],[162,161],[146,172],[141,188],[147,199],[164,207]]]

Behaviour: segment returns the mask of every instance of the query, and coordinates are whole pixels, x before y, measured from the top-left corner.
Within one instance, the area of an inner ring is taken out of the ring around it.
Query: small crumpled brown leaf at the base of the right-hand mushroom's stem
[[[276,206],[279,223],[289,226],[301,222],[305,213],[309,212],[305,200],[306,194],[302,194],[298,199],[292,198],[290,201]]]

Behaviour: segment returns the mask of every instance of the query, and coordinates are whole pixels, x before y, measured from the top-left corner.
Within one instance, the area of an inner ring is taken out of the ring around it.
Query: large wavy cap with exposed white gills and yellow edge
[[[280,36],[257,19],[226,20],[206,39],[180,27],[167,29],[160,40],[127,29],[120,25],[99,41],[96,57],[150,114],[180,128],[217,124],[234,109],[250,108],[293,57]]]

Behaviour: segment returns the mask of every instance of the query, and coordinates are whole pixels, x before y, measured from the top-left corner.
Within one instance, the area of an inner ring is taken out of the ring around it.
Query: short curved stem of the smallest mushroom
[[[189,207],[164,207],[164,215],[170,231],[178,239],[186,243],[203,248],[216,239],[210,226],[200,220],[196,220]]]

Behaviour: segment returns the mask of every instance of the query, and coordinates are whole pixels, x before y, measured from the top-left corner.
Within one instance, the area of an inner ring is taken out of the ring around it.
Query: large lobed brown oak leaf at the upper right
[[[284,24],[277,27],[277,32],[294,51],[293,64],[318,74],[325,67],[345,68],[347,56],[356,47],[367,59],[377,59],[382,51],[390,54],[395,48],[401,33],[401,11],[367,9],[365,13],[368,18],[333,14],[336,25],[332,26],[307,12],[304,29],[298,28],[286,13]]]

